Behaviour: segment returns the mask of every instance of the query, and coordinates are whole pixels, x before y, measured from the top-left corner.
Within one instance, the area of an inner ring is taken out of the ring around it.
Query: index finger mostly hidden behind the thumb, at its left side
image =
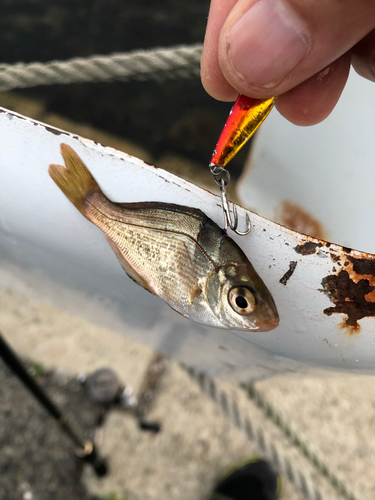
[[[221,28],[237,0],[212,0],[204,37],[201,79],[205,90],[221,101],[233,101],[238,92],[224,77],[218,58]]]

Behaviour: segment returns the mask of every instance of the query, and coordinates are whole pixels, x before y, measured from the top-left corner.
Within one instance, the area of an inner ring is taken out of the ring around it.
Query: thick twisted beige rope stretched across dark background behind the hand
[[[0,91],[37,85],[199,76],[202,45],[138,50],[47,63],[0,64]]]

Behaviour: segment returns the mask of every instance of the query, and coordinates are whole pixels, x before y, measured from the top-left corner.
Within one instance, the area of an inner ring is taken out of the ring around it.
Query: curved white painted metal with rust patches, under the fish
[[[249,212],[251,233],[230,235],[273,294],[280,326],[245,333],[196,325],[129,280],[100,231],[55,187],[47,169],[61,162],[61,142],[77,151],[113,201],[192,206],[222,226],[220,198],[208,191],[126,153],[2,110],[0,286],[23,287],[213,375],[247,379],[301,369],[298,362],[375,368],[374,255]],[[245,213],[239,207],[241,221]]]

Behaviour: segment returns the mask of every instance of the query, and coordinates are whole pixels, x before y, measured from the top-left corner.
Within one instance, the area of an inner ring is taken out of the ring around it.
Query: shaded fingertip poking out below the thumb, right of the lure
[[[347,52],[332,64],[276,101],[278,111],[296,125],[315,125],[323,121],[336,106],[350,70],[351,54]]]

